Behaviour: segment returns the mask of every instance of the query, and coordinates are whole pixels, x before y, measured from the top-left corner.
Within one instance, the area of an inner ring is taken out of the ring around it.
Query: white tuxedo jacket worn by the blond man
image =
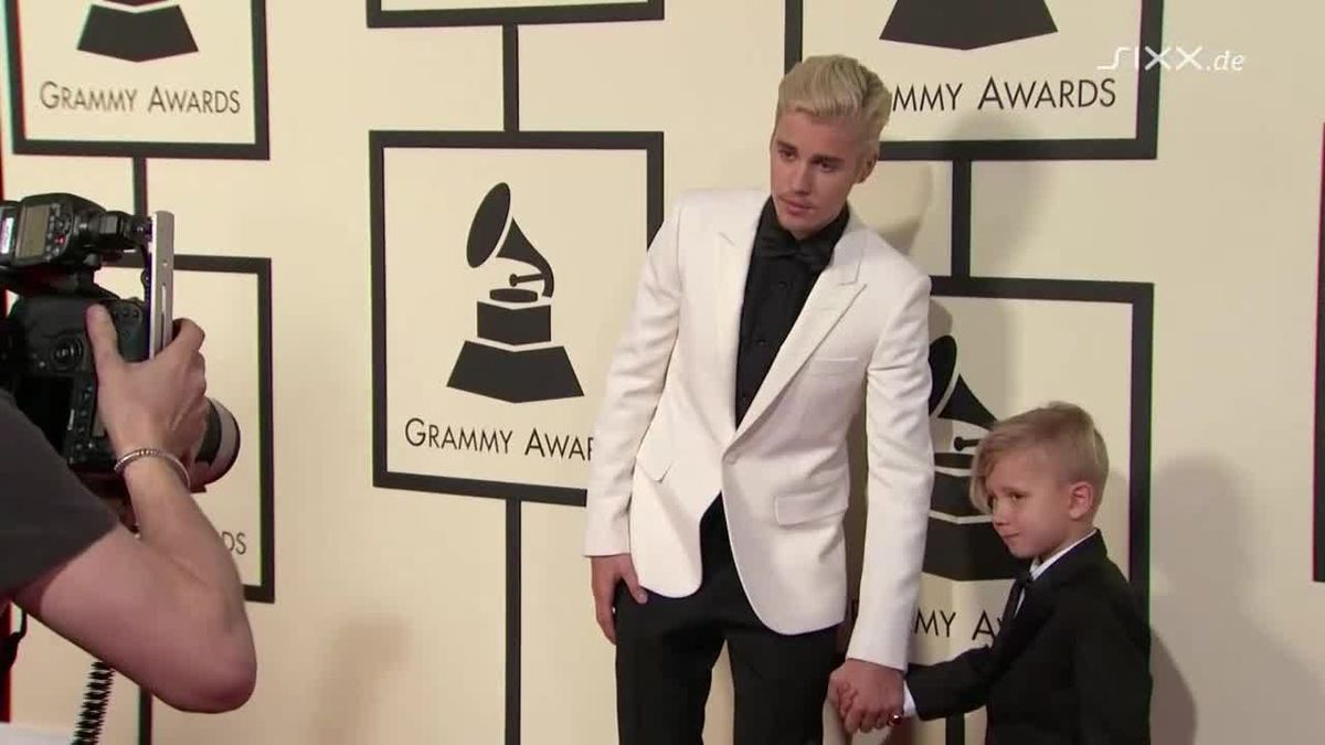
[[[640,583],[700,586],[718,493],[755,614],[799,634],[844,620],[847,432],[867,406],[868,522],[848,656],[906,667],[933,485],[929,277],[852,213],[741,427],[735,370],[758,191],[682,196],[659,229],[594,430],[586,555]]]

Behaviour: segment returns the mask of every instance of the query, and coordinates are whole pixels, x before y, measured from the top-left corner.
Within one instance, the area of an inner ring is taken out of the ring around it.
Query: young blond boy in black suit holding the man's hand
[[[1030,571],[991,646],[908,673],[908,716],[983,705],[986,742],[999,745],[1150,741],[1150,630],[1094,528],[1108,472],[1104,440],[1076,406],[990,430],[971,500]]]

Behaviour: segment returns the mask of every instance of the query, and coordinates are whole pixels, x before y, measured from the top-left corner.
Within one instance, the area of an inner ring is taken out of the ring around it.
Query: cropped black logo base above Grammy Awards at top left
[[[174,0],[101,0],[87,9],[78,49],[129,62],[197,52]]]

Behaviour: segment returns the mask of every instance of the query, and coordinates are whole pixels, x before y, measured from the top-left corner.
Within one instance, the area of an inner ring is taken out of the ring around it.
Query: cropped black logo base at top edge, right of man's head
[[[1044,0],[897,0],[878,38],[970,50],[1057,30]]]

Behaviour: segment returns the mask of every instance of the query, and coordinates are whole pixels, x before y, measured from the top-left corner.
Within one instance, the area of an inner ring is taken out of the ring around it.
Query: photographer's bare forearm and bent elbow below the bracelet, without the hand
[[[235,709],[257,669],[235,562],[167,463],[125,477],[142,540],[115,526],[15,599],[170,705]]]

